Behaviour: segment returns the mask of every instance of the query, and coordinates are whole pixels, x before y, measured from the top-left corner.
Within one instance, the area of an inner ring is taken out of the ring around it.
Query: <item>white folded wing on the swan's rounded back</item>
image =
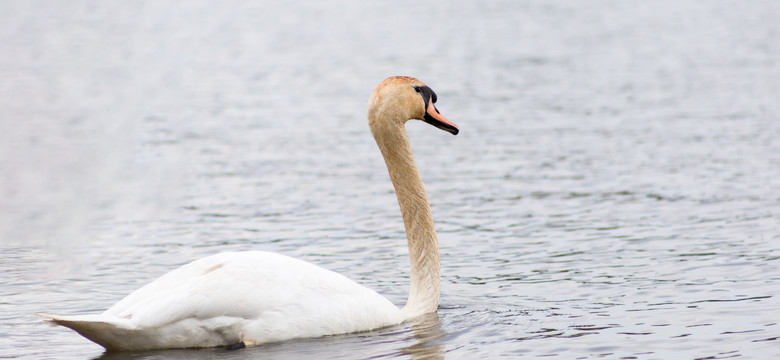
[[[101,317],[137,332],[199,329],[200,334],[205,329],[206,335],[182,335],[189,339],[176,347],[214,346],[209,341],[217,337],[257,344],[403,320],[390,301],[342,275],[260,251],[221,253],[186,264],[131,293]],[[199,339],[203,337],[210,340]]]

